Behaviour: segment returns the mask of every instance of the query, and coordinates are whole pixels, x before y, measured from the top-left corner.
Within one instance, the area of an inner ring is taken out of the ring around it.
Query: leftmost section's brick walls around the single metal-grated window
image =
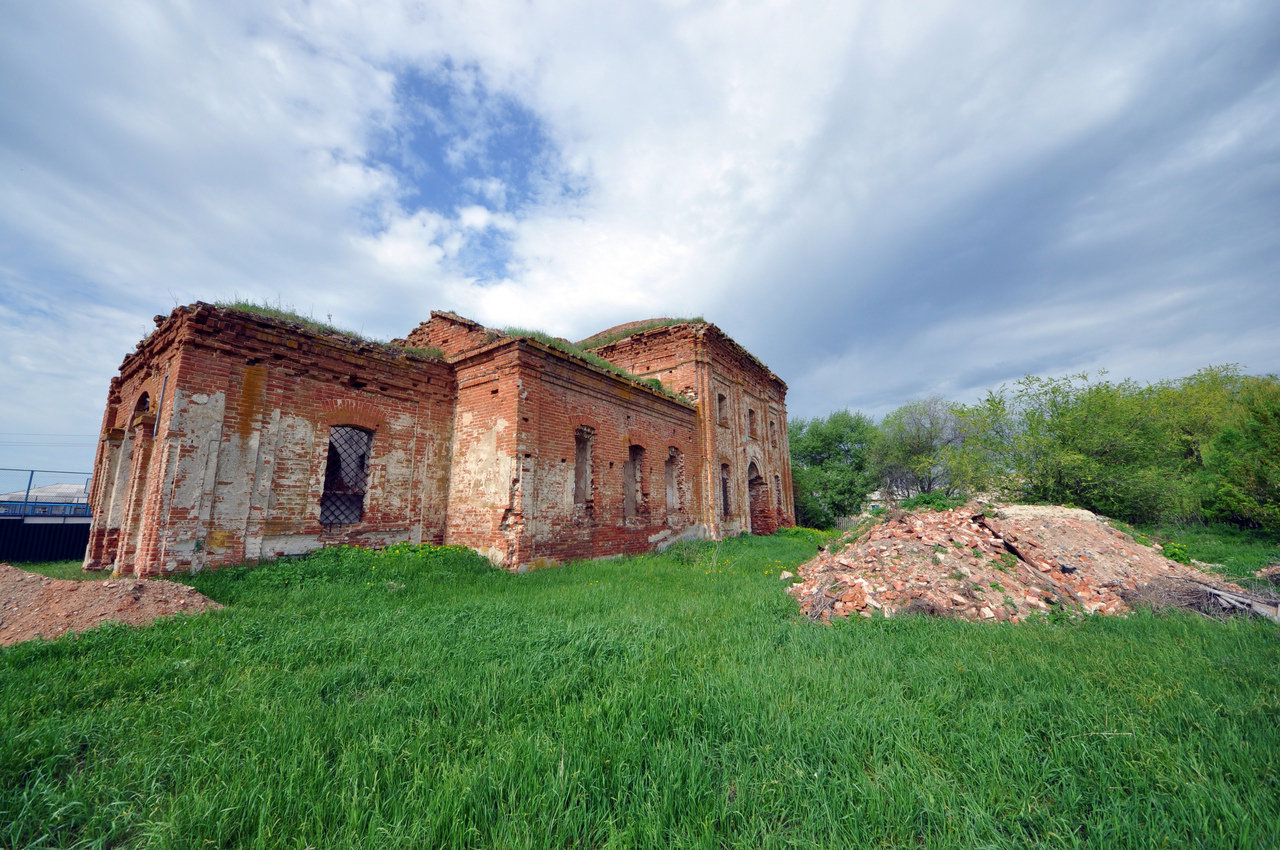
[[[122,415],[145,393],[157,401],[142,421]],[[177,310],[113,381],[96,469],[114,453],[129,481],[118,471],[95,488],[86,567],[150,575],[443,540],[453,397],[439,361],[207,305]],[[360,521],[321,525],[334,425],[372,434],[367,493]]]

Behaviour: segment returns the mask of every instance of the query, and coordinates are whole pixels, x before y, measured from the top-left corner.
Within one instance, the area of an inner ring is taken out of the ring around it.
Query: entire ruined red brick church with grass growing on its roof
[[[84,567],[411,541],[524,570],[794,522],[786,384],[719,328],[556,343],[449,312],[390,343],[206,303],[156,316],[111,380]]]

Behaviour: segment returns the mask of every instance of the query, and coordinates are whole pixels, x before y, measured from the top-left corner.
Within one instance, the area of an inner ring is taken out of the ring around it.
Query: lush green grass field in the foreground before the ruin
[[[0,652],[0,845],[1275,847],[1280,629],[817,626],[803,531],[328,550]]]

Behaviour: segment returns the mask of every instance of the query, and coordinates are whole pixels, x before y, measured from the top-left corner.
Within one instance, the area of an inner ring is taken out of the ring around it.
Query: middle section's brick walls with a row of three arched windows
[[[517,568],[705,535],[684,462],[696,443],[690,405],[530,339],[454,367],[449,543]],[[589,472],[576,492],[584,429]]]

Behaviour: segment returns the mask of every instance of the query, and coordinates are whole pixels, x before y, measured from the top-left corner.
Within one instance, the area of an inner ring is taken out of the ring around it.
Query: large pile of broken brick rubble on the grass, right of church
[[[1116,614],[1133,604],[1252,609],[1274,599],[1165,558],[1078,508],[966,504],[892,512],[800,567],[790,593],[810,617],[918,611],[1019,622],[1055,608]]]

